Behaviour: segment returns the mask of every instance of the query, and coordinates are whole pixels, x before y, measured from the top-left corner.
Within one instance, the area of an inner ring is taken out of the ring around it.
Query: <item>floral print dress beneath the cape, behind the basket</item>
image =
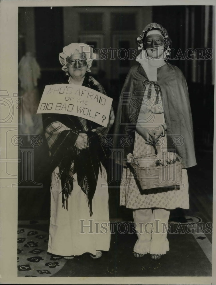
[[[142,113],[146,113],[146,97],[148,93],[149,85],[146,86],[146,91],[144,93],[142,106],[140,108],[140,115],[138,117],[142,120]],[[156,102],[156,91],[154,86],[151,86],[151,98],[147,105],[154,105],[154,113],[151,108],[149,108],[149,119],[145,127],[149,130],[155,129],[156,126],[165,123],[163,105],[159,92],[159,100]],[[148,107],[147,107],[148,109]],[[152,112],[152,113],[150,113]],[[164,144],[162,149],[166,150],[166,135],[163,138]],[[146,141],[137,132],[135,133],[135,142],[133,155],[135,157],[143,156],[147,154],[154,154],[155,149],[153,146],[146,144]],[[182,169],[182,187],[175,188],[174,190],[165,190],[162,188],[150,190],[142,190],[140,192],[133,173],[130,168],[123,169],[123,175],[120,186],[120,205],[125,205],[127,208],[131,209],[146,209],[146,208],[164,208],[164,209],[175,209],[177,207],[183,209],[189,209],[189,195],[188,195],[188,175],[187,170]]]

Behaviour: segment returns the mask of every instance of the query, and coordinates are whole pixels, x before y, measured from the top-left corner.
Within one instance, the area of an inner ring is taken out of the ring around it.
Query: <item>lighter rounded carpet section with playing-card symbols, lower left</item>
[[[48,234],[44,231],[18,227],[18,277],[52,276],[66,263],[61,256],[47,253]]]

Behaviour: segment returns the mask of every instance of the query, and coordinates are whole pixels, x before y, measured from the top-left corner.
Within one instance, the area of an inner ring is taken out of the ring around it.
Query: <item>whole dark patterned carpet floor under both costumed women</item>
[[[174,229],[178,223],[184,227],[201,221],[193,215],[170,217]],[[133,256],[136,234],[119,234],[116,227],[112,229],[110,249],[101,258],[93,259],[86,253],[65,260],[47,253],[48,220],[18,221],[18,277],[211,276],[210,235],[168,233],[170,251],[160,260],[152,260],[149,254]]]

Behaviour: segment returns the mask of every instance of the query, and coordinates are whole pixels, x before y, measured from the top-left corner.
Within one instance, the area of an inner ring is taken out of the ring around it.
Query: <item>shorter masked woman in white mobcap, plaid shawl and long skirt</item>
[[[93,49],[86,44],[65,46],[59,60],[67,78],[61,83],[89,87],[106,95],[89,75],[94,58]],[[43,114],[52,173],[49,253],[65,259],[83,253],[99,258],[101,251],[109,250],[107,153],[101,138],[113,122],[112,108],[106,127],[72,115]]]

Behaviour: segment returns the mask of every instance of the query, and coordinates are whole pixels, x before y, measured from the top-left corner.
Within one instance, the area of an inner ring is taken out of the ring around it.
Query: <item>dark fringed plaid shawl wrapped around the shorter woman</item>
[[[66,82],[61,83],[68,83]],[[87,73],[82,86],[89,87],[106,95],[103,87]],[[111,108],[107,127],[92,121],[62,114],[42,114],[45,137],[50,149],[50,175],[56,167],[62,184],[62,207],[68,209],[68,198],[73,190],[73,174],[77,174],[78,184],[87,196],[90,215],[92,215],[92,199],[97,186],[101,165],[107,168],[107,149],[101,144],[114,122]],[[86,133],[89,147],[79,151],[74,143],[79,133]],[[51,186],[52,187],[52,186]]]

